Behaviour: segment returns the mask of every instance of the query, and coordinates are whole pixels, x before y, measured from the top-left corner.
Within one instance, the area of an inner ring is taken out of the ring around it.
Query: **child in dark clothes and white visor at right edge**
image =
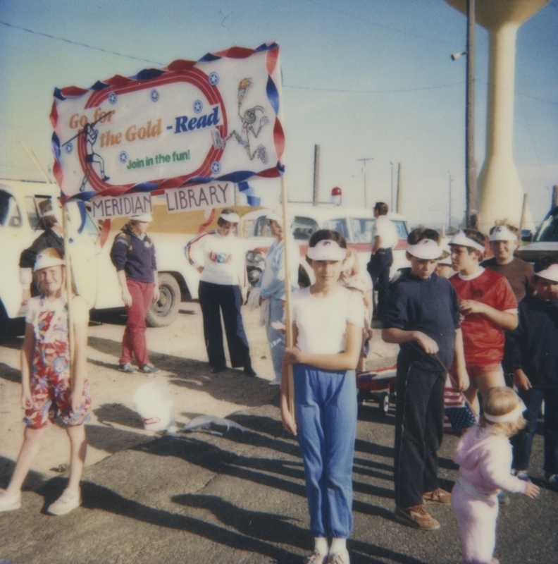
[[[514,472],[528,479],[531,445],[540,405],[545,402],[545,478],[558,488],[558,260],[547,257],[535,264],[536,294],[519,304],[519,325],[510,334],[514,383],[527,409],[525,429],[514,445]]]

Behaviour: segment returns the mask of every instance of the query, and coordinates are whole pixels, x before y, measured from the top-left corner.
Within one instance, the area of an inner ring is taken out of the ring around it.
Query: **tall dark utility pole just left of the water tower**
[[[465,117],[466,224],[473,227],[471,216],[478,218],[477,173],[475,162],[475,0],[467,0],[467,73]],[[450,219],[451,221],[451,219]]]

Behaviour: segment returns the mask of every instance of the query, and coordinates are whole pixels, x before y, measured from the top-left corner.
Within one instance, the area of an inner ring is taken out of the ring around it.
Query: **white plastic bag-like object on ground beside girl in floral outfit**
[[[164,431],[175,424],[171,390],[164,381],[154,380],[137,388],[134,408],[149,431]]]

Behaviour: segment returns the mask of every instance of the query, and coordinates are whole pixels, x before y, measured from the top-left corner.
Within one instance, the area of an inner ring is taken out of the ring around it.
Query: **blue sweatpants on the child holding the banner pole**
[[[354,370],[294,364],[294,405],[312,536],[346,539],[353,525]]]

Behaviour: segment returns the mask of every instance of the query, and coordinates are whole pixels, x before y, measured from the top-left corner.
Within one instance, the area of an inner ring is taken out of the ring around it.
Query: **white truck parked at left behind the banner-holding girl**
[[[0,333],[8,322],[25,317],[19,282],[20,253],[42,233],[39,202],[52,200],[58,221],[57,185],[0,179]],[[154,199],[156,200],[156,199]],[[78,292],[91,309],[123,307],[116,269],[109,256],[114,235],[126,221],[113,220],[112,226],[99,224],[89,213],[80,212],[75,202],[68,204],[70,215],[70,257]],[[163,206],[154,205],[155,216],[166,216]],[[160,224],[167,223],[161,219]],[[199,274],[187,262],[183,248],[192,234],[149,231],[154,240],[159,268],[161,299],[147,316],[150,326],[170,324],[178,314],[181,295],[197,298]]]

